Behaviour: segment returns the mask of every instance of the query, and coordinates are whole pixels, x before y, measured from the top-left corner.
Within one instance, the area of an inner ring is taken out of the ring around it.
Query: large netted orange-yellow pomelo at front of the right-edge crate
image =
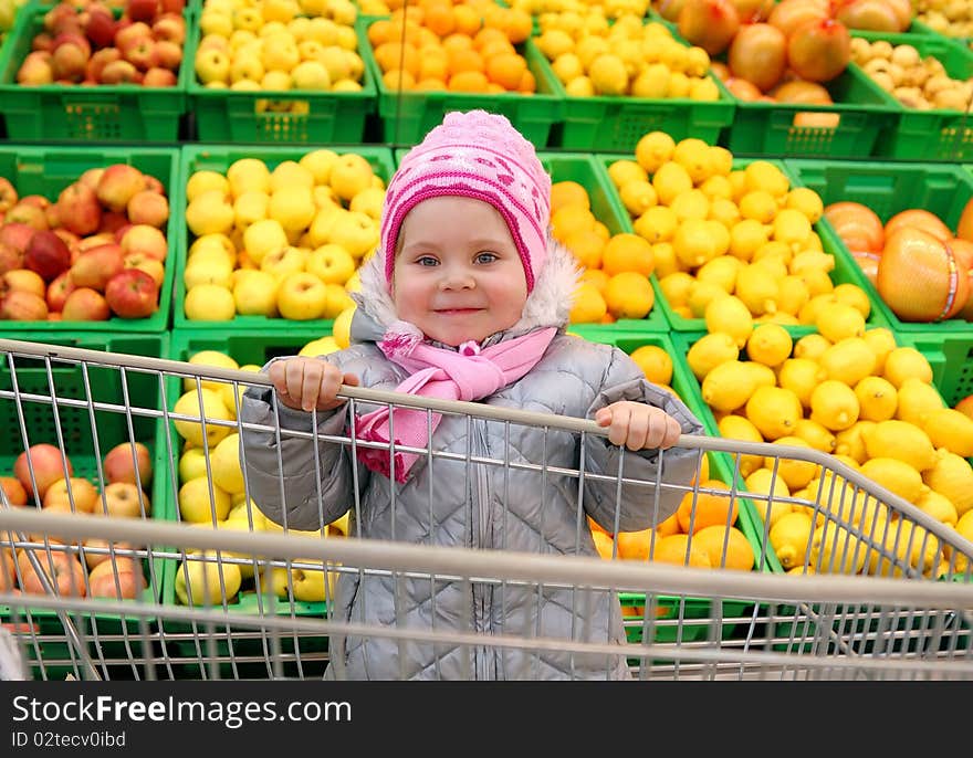
[[[970,274],[951,244],[921,229],[903,227],[886,239],[876,286],[903,322],[938,322],[951,318],[966,304]]]

